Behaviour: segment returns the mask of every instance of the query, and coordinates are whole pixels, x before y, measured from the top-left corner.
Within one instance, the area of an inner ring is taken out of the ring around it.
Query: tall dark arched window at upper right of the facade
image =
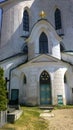
[[[62,23],[61,23],[61,11],[57,8],[55,11],[55,29],[61,29]]]

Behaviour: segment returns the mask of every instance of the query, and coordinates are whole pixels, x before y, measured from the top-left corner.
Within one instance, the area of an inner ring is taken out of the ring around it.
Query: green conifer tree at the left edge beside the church
[[[7,107],[7,90],[4,80],[4,71],[0,67],[0,111],[5,110]]]

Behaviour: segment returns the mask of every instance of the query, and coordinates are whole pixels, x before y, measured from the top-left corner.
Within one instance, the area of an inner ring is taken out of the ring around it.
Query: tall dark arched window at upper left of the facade
[[[23,13],[23,30],[29,31],[29,14],[27,10],[24,10]]]

